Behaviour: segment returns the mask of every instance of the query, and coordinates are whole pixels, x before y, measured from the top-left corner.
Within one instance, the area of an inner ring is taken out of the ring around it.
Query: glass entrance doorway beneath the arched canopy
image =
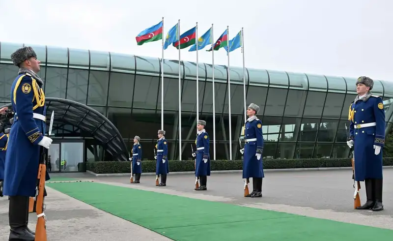
[[[53,140],[48,153],[49,172],[83,172],[83,164],[84,141]]]

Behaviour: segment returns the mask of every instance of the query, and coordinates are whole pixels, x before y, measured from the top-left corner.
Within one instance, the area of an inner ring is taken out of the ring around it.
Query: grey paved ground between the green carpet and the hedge
[[[380,212],[353,209],[350,170],[266,173],[263,198],[260,199],[243,197],[241,174],[213,174],[208,178],[208,190],[204,192],[193,190],[193,175],[168,175],[166,187],[156,187],[155,176],[142,176],[140,184],[130,184],[129,177],[74,176],[130,188],[393,229],[393,169],[384,169],[385,210]],[[366,199],[364,182],[361,185],[363,204]]]

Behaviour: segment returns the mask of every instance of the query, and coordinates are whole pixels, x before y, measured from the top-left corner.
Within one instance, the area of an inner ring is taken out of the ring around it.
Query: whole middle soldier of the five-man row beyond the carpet
[[[209,155],[209,135],[205,131],[206,121],[197,121],[197,138],[195,144],[197,150],[195,151],[196,156],[196,168],[195,176],[199,177],[200,186],[195,190],[207,190],[207,176],[210,176],[210,155]]]

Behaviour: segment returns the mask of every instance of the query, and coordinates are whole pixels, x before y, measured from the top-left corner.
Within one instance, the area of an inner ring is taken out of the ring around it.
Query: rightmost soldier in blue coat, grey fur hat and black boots
[[[374,81],[365,76],[356,82],[358,95],[349,107],[347,144],[354,147],[355,181],[365,181],[367,201],[356,209],[381,211],[385,110],[382,97],[370,92],[373,85]]]

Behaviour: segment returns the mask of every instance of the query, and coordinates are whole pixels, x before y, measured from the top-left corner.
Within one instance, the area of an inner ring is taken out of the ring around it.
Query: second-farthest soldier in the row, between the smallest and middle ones
[[[156,163],[156,186],[167,185],[167,174],[169,173],[168,165],[168,142],[165,139],[165,130],[158,131],[158,141],[156,145],[157,155],[154,157]],[[158,177],[161,175],[161,182],[158,184]]]

